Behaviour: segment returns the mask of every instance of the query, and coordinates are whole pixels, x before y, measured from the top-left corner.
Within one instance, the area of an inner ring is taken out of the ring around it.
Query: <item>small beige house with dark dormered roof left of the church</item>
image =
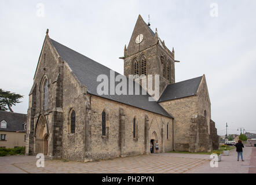
[[[0,110],[0,147],[25,146],[27,115]]]

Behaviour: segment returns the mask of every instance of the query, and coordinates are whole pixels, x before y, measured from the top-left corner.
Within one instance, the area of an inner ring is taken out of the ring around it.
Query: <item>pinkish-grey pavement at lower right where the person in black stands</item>
[[[254,150],[254,153],[252,153]],[[230,151],[229,156],[222,156],[221,162],[218,162],[218,168],[211,168],[210,162],[204,163],[203,165],[190,169],[185,173],[255,173],[256,160],[255,147],[244,147],[243,157],[244,162],[237,161],[236,149]],[[251,160],[254,158],[254,162]]]

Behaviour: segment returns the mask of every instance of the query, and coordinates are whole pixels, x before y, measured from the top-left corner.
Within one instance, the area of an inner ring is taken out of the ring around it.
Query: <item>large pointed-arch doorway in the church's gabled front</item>
[[[35,153],[48,154],[48,129],[43,116],[38,118],[35,128]]]

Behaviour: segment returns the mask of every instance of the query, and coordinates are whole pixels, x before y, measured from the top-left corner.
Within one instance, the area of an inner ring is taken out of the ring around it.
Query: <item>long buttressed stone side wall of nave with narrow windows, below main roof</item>
[[[92,110],[89,125],[93,159],[149,153],[150,139],[158,139],[160,152],[172,150],[171,118],[94,95],[90,99]],[[107,117],[106,136],[102,135],[103,110]],[[133,138],[134,117],[136,117],[136,138]],[[169,124],[169,139],[166,136],[166,124]],[[153,132],[156,133],[157,138]]]

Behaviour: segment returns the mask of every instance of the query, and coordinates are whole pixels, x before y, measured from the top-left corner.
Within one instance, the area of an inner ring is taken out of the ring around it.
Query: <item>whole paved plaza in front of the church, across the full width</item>
[[[255,173],[255,149],[244,149],[245,162],[237,162],[232,150],[222,156],[218,168],[211,168],[210,156],[202,154],[159,153],[94,162],[46,159],[43,168],[36,167],[35,156],[6,156],[0,157],[0,173]]]

